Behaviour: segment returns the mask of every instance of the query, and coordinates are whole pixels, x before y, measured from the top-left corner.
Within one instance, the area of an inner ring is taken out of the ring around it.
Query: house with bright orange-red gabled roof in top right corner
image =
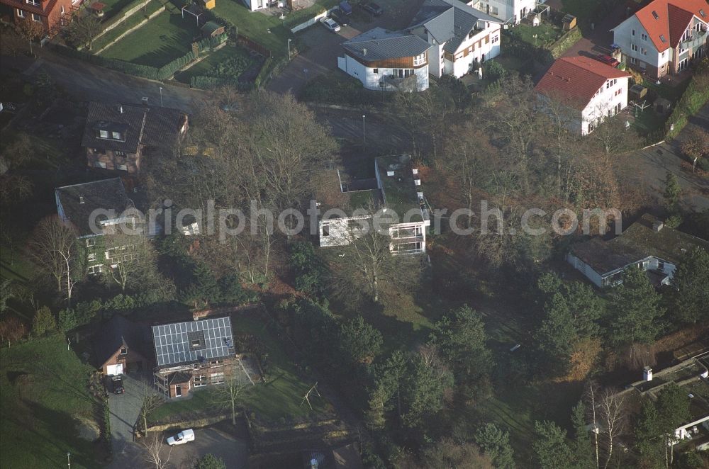
[[[627,65],[660,78],[706,56],[708,24],[705,0],[654,0],[613,28],[613,42]]]

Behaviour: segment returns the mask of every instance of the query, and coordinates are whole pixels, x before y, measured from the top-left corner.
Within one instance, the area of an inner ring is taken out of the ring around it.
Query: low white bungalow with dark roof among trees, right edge
[[[623,271],[639,266],[655,285],[666,285],[684,253],[699,247],[709,250],[709,242],[687,235],[652,215],[642,215],[622,235],[604,241],[593,238],[574,244],[566,261],[598,287],[623,281]]]

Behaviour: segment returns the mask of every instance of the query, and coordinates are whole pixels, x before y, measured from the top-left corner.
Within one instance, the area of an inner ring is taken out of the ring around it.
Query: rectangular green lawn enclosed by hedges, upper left
[[[191,50],[199,40],[194,18],[163,11],[145,25],[108,47],[101,55],[135,64],[162,67]]]

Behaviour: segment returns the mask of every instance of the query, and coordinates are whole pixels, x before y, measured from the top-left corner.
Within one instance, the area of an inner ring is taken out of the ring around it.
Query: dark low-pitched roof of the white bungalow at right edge
[[[605,275],[648,256],[677,264],[689,249],[700,247],[709,251],[709,241],[704,239],[670,227],[655,231],[653,225],[659,221],[657,217],[646,213],[622,235],[610,241],[594,238],[574,244],[571,252],[594,271]]]

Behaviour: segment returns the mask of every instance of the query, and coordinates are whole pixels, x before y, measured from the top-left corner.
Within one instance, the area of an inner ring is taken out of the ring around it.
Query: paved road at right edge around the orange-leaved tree
[[[664,192],[666,175],[672,172],[682,186],[682,203],[685,207],[688,210],[709,209],[709,177],[681,169],[681,163],[685,160],[681,157],[679,145],[694,127],[709,130],[709,104],[691,118],[689,125],[672,143],[638,150],[628,157],[625,165],[628,176],[658,203]]]

